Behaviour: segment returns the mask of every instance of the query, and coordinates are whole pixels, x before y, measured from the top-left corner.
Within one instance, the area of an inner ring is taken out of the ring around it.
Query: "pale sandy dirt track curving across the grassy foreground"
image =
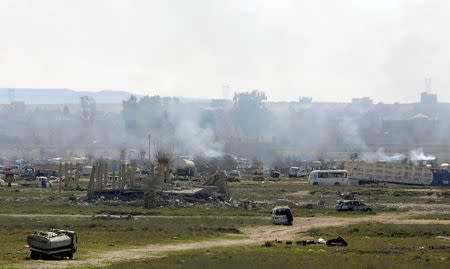
[[[361,218],[338,218],[338,217],[314,217],[314,218],[295,218],[292,226],[256,226],[240,229],[243,232],[242,239],[212,239],[194,243],[180,244],[150,244],[144,247],[128,248],[117,251],[91,252],[86,260],[63,260],[63,261],[26,261],[21,264],[24,268],[63,268],[63,267],[83,267],[86,265],[102,266],[111,262],[143,259],[165,255],[170,251],[217,248],[242,245],[256,245],[265,241],[275,239],[292,240],[300,233],[313,228],[325,228],[332,226],[346,226],[350,224],[364,222],[381,222],[393,224],[448,224],[450,220],[415,220],[405,219],[407,215],[403,214],[379,214]],[[39,215],[34,215],[39,216]],[[184,217],[186,218],[186,217]],[[242,218],[242,217],[239,217]]]

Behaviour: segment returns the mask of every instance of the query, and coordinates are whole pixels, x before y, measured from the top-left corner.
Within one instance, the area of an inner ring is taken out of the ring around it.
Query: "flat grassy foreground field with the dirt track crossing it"
[[[355,261],[361,258],[356,267],[364,268],[372,264],[372,260],[365,260],[367,255],[364,251],[369,250],[360,242],[365,236],[378,242],[377,249],[370,250],[374,251],[372,258],[389,258],[396,253],[396,244],[407,244],[404,247],[410,252],[405,255],[418,255],[424,262],[424,257],[428,255],[432,267],[444,268],[449,264],[449,241],[436,239],[437,236],[446,238],[450,234],[448,189],[396,185],[310,186],[304,180],[287,178],[279,182],[243,180],[230,183],[229,189],[232,199],[247,201],[246,205],[233,206],[230,202],[220,206],[143,209],[141,201],[87,203],[84,200],[85,191],[59,193],[55,189],[3,189],[0,191],[0,267],[146,268],[181,265],[190,268],[196,267],[196,264],[203,268],[231,268],[245,263],[242,255],[238,254],[241,252],[270,257],[266,264],[260,264],[264,267],[285,258],[295,260],[297,254],[308,254],[303,253],[308,249],[312,249],[314,259],[320,256],[329,259],[337,255],[335,250],[340,249],[340,257],[353,255]],[[357,199],[373,206],[374,212],[336,212],[334,204],[341,199],[342,193],[353,193]],[[271,224],[270,210],[274,205],[289,205],[292,208],[292,226]],[[134,218],[101,220],[92,218],[95,214],[130,214]],[[336,230],[355,225],[375,225],[377,231],[355,234],[348,230]],[[52,227],[78,232],[79,249],[74,260],[29,259],[29,251],[24,248],[26,235],[33,230]],[[394,247],[380,243],[385,242],[386,237],[383,227],[389,232]],[[434,227],[433,232],[429,231],[431,227]],[[318,246],[302,248],[295,246],[295,243],[289,247],[285,247],[284,243],[276,248],[261,247],[268,241],[317,240],[320,236],[329,239],[337,233],[350,238],[348,248],[339,247],[331,251]],[[433,249],[427,247],[419,251],[422,245],[429,246],[430,242]],[[203,254],[206,250],[207,253],[216,253],[211,257],[216,257],[218,261],[223,255],[231,258],[225,259],[228,263],[216,264],[209,259],[210,255]],[[340,262],[345,265],[344,260]],[[403,262],[407,264],[408,259]]]

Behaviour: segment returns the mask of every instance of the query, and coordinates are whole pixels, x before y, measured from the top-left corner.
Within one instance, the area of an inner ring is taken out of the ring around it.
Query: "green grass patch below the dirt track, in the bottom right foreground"
[[[449,268],[450,244],[436,238],[448,225],[361,224],[312,230],[298,239],[335,238],[347,247],[242,246],[176,252],[158,259],[116,263],[108,268]]]

